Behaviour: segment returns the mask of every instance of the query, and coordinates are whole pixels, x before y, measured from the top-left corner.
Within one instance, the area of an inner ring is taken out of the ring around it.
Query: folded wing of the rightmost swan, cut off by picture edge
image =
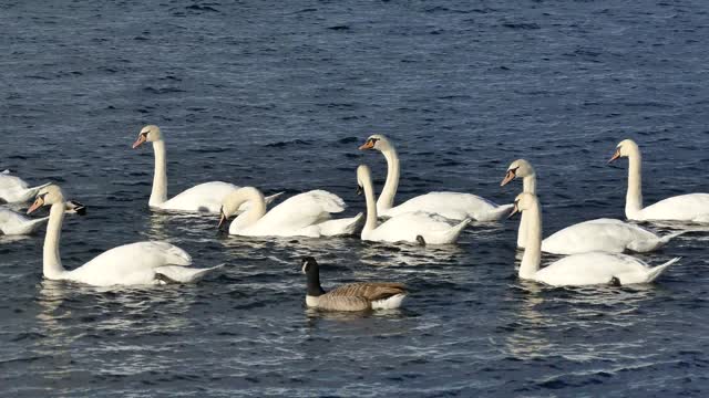
[[[641,210],[645,220],[693,221],[709,214],[709,193],[680,195]]]

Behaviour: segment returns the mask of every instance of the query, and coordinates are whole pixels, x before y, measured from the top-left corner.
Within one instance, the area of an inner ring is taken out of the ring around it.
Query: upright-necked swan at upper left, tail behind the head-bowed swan
[[[165,154],[165,140],[160,127],[154,125],[145,126],[141,129],[133,148],[137,148],[143,143],[153,143],[155,153],[155,174],[153,176],[153,190],[148,205],[151,208],[175,211],[209,212],[218,213],[224,198],[239,189],[239,187],[222,181],[210,181],[194,186],[182,193],[167,199],[167,159]],[[266,198],[270,203],[282,192]],[[245,210],[240,209],[240,210]]]

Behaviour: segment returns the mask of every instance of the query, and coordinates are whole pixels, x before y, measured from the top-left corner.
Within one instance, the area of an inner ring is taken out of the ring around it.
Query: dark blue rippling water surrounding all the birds
[[[150,6],[145,4],[150,3]],[[226,180],[322,188],[363,209],[354,169],[390,136],[398,201],[435,189],[511,202],[537,168],[545,233],[624,216],[625,161],[645,199],[709,191],[709,3],[662,1],[1,1],[0,169],[90,207],[64,223],[78,266],[168,240],[223,273],[184,286],[42,279],[43,233],[0,238],[0,392],[33,396],[703,397],[709,255],[686,234],[657,284],[551,289],[515,274],[517,220],[452,248],[254,240],[216,218],[152,214],[162,127],[171,196]],[[664,229],[659,229],[664,231]],[[297,258],[330,285],[401,281],[405,308],[311,312]],[[548,259],[547,259],[548,260]]]

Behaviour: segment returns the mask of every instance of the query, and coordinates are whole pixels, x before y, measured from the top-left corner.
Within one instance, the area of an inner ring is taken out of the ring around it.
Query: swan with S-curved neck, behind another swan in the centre
[[[494,221],[504,218],[512,210],[512,205],[499,206],[479,196],[460,192],[429,192],[393,207],[400,174],[397,149],[387,137],[380,134],[367,138],[367,142],[359,149],[377,149],[387,159],[387,181],[377,201],[377,211],[380,217],[387,218],[413,211],[424,211],[443,216],[450,220],[470,218],[477,221]]]

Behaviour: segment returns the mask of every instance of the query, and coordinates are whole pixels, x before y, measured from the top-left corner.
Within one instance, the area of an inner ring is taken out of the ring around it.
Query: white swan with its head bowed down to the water
[[[330,213],[345,210],[345,201],[325,190],[311,190],[286,199],[266,212],[264,195],[254,187],[240,188],[224,199],[219,227],[237,209],[248,203],[248,209],[229,226],[229,233],[245,237],[335,237],[352,234],[363,214],[331,220]]]

